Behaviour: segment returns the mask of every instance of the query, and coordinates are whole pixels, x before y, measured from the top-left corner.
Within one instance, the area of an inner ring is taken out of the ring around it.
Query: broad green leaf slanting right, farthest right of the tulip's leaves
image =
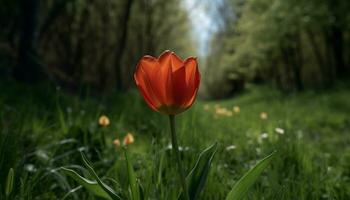
[[[249,188],[255,183],[259,175],[270,164],[275,157],[276,152],[268,155],[259,161],[252,169],[250,169],[238,182],[233,186],[226,200],[240,200],[247,194]]]

